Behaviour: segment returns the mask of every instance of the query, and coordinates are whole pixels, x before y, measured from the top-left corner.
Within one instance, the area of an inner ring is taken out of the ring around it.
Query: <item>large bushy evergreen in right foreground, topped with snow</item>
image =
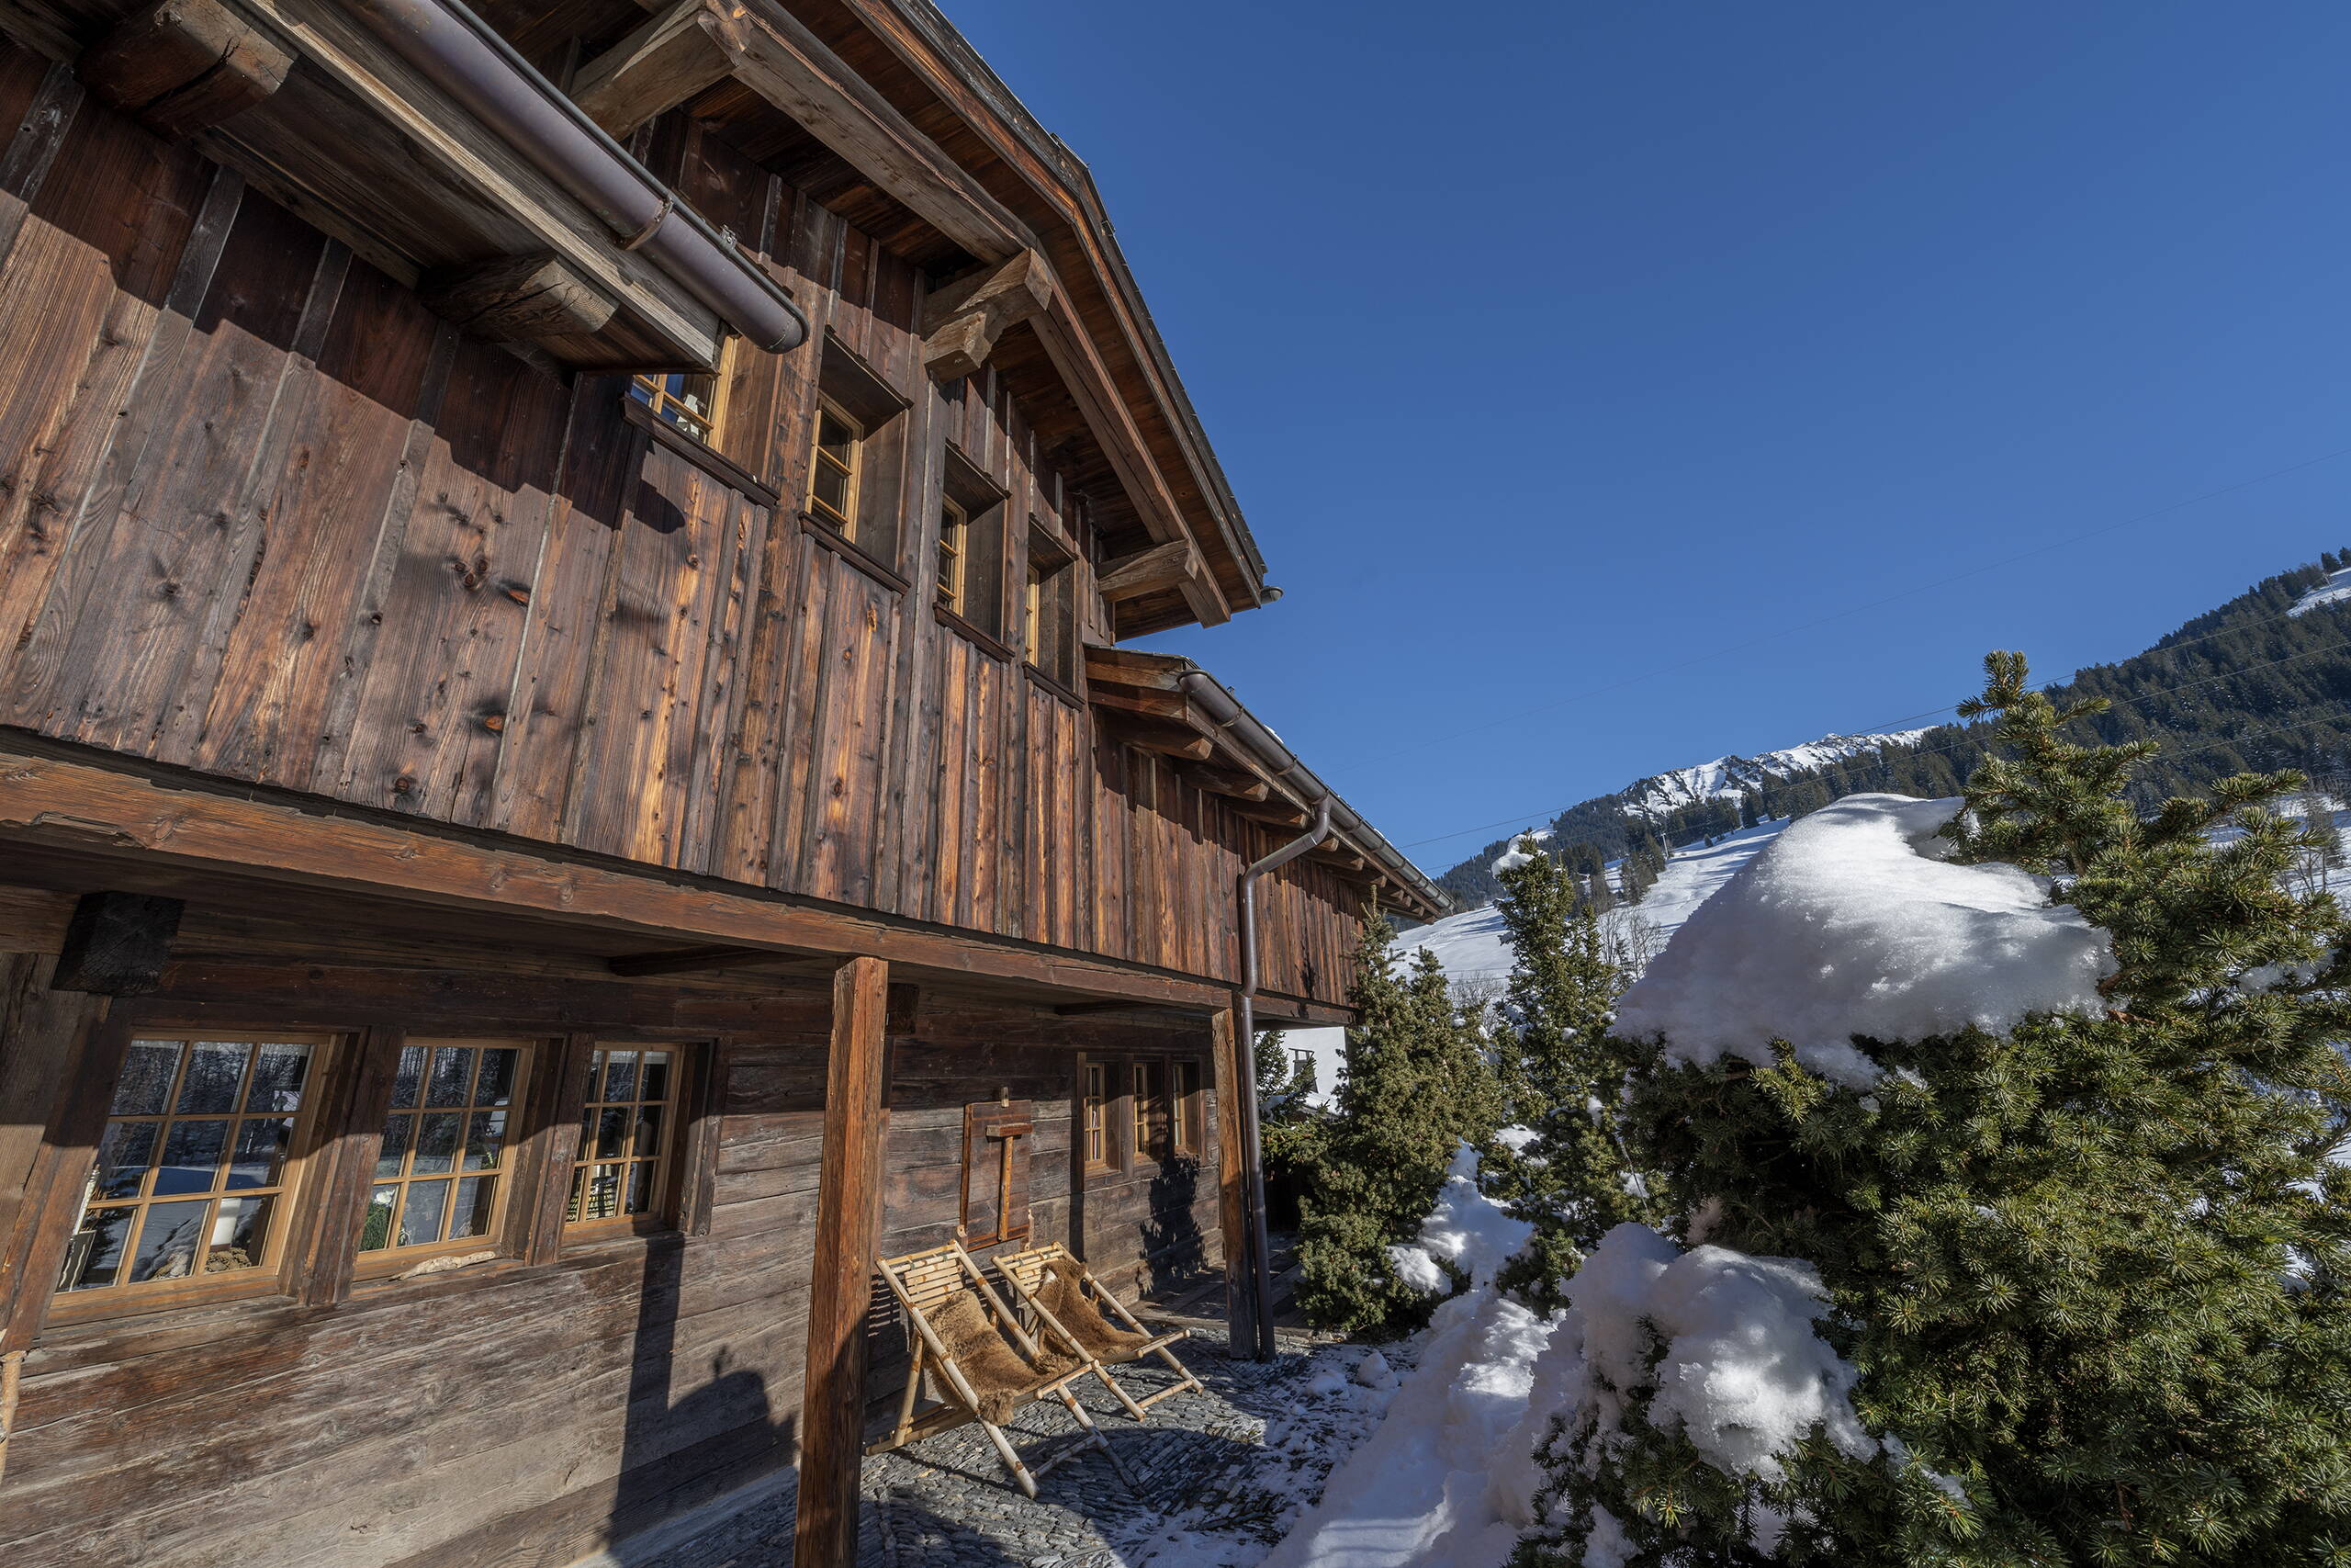
[[[1871,1095],[1784,1046],[1660,1070],[1632,1117],[1712,1241],[1820,1267],[1855,1410],[1916,1460],[1815,1436],[1784,1479],[1735,1481],[1679,1432],[1561,1429],[1563,1526],[1523,1561],[1582,1563],[1592,1505],[1639,1568],[1770,1561],[1759,1507],[1789,1519],[1780,1561],[2351,1561],[2351,1168],[2327,1161],[2351,924],[2290,889],[2311,839],[2269,804],[2299,780],[2226,778],[2142,820],[2151,748],[2076,745],[2059,731],[2097,701],[1987,665],[1965,712],[1998,715],[2003,755],[1968,780],[1954,858],[2052,877],[2111,936],[2111,1006],[1857,1041],[1895,1074]]]

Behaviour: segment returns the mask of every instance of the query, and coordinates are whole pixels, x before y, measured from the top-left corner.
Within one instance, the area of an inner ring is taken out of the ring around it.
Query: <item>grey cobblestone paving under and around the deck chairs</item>
[[[1178,1394],[1136,1425],[1100,1382],[1077,1387],[1133,1481],[1103,1453],[1081,1453],[1037,1483],[1030,1502],[987,1434],[959,1427],[865,1460],[858,1568],[1246,1568],[1281,1540],[1321,1483],[1387,1408],[1385,1359],[1354,1345],[1284,1338],[1272,1363],[1232,1361],[1223,1338],[1178,1347],[1204,1394]],[[1157,1361],[1121,1368],[1140,1394],[1173,1382]],[[1009,1427],[1034,1467],[1077,1422],[1058,1403],[1027,1406]],[[771,1497],[642,1568],[785,1568],[792,1495]]]

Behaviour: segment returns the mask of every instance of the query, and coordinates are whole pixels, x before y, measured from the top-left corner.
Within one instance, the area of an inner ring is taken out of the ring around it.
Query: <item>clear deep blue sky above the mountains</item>
[[[2351,7],[945,5],[1286,590],[1150,646],[1432,870],[2351,543]]]

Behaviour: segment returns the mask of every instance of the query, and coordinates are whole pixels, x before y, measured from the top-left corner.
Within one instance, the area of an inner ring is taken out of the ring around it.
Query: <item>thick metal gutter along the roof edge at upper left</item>
[[[588,113],[461,0],[343,0],[376,38],[463,103],[722,322],[769,353],[809,341],[809,317],[759,266],[684,207]]]

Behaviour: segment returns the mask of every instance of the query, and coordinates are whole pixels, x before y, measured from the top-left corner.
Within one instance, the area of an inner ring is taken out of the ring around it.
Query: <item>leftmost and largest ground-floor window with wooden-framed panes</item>
[[[329,1044],[132,1039],[56,1288],[146,1300],[181,1281],[273,1276]]]

